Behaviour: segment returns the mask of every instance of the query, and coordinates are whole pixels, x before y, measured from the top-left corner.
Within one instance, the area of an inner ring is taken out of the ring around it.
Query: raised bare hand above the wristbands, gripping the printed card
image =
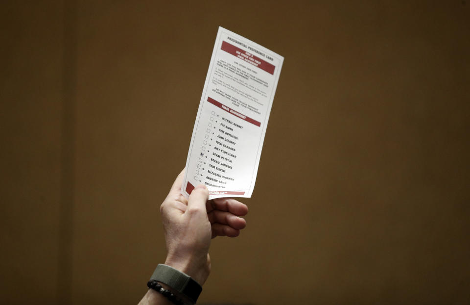
[[[167,250],[165,265],[183,271],[202,285],[211,271],[211,238],[238,236],[246,226],[240,216],[248,213],[248,207],[228,198],[208,201],[205,185],[196,186],[189,198],[184,197],[180,192],[184,174],[183,170],[160,206]]]

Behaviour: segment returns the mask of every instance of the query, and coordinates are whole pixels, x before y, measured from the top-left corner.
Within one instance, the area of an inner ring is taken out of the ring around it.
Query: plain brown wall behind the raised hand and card
[[[1,304],[135,304],[217,26],[285,57],[202,304],[470,303],[470,3],[11,1]]]

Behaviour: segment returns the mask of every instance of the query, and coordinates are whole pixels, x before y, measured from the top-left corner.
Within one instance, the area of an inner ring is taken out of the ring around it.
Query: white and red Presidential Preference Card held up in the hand
[[[251,197],[284,58],[219,27],[181,193],[205,184],[209,199]]]

